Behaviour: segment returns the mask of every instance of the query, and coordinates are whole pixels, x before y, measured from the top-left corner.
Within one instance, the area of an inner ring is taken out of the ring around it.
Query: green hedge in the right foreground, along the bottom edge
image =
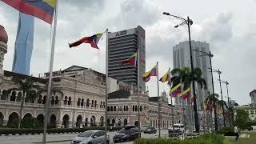
[[[227,144],[225,137],[218,134],[204,134],[197,138],[175,140],[170,138],[139,138],[134,144]]]

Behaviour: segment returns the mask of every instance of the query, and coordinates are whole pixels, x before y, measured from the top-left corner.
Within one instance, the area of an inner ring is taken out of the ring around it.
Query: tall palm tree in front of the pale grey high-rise
[[[207,88],[206,80],[202,78],[202,70],[199,68],[194,68],[193,70],[190,70],[189,67],[183,67],[183,68],[175,68],[174,70],[171,70],[171,74],[173,77],[171,78],[171,81],[173,83],[173,86],[176,86],[178,83],[182,82],[183,89],[186,89],[190,87],[191,82],[198,82],[198,84],[201,86],[204,86],[204,88]],[[194,103],[196,103],[196,95],[194,93]],[[195,128],[197,131],[199,131],[199,122],[198,122],[198,108],[197,105],[194,105],[194,123]]]

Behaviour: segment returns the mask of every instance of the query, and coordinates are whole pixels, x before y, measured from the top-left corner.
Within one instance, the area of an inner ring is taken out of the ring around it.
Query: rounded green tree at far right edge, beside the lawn
[[[245,110],[236,110],[236,113],[234,124],[242,130],[246,129],[250,122],[249,114]]]

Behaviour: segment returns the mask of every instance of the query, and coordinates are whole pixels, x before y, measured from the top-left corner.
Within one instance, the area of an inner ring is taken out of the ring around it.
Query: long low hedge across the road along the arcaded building
[[[113,127],[112,130],[121,130],[122,127]],[[60,133],[81,133],[86,130],[105,130],[105,127],[102,126],[90,126],[85,128],[54,128],[54,129],[47,129],[48,134],[60,134]],[[108,127],[110,130],[110,127]],[[11,128],[2,128],[0,129],[0,135],[16,135],[16,134],[42,134],[43,129],[11,129]]]

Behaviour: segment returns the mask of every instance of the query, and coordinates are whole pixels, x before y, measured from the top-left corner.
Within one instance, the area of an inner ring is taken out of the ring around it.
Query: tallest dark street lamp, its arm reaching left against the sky
[[[190,40],[190,65],[191,65],[191,71],[194,70],[194,66],[193,66],[193,58],[192,58],[192,46],[191,46],[191,38],[190,38],[190,25],[193,24],[193,21],[187,17],[186,18],[182,18],[182,17],[178,17],[176,15],[172,15],[169,14],[167,12],[163,12],[162,14],[164,15],[168,15],[170,17],[174,17],[174,18],[178,18],[179,20],[182,20],[182,23],[180,23],[179,25],[174,26],[174,28],[178,28],[178,26],[182,26],[182,25],[187,25],[188,27],[188,31],[189,31],[189,40]],[[194,88],[194,80],[192,80],[192,88],[193,88],[193,94],[194,94],[194,126],[195,126],[195,130],[197,133],[199,133],[199,122],[198,122],[198,106],[197,106],[197,99],[196,99],[196,94],[195,94],[195,88]]]

